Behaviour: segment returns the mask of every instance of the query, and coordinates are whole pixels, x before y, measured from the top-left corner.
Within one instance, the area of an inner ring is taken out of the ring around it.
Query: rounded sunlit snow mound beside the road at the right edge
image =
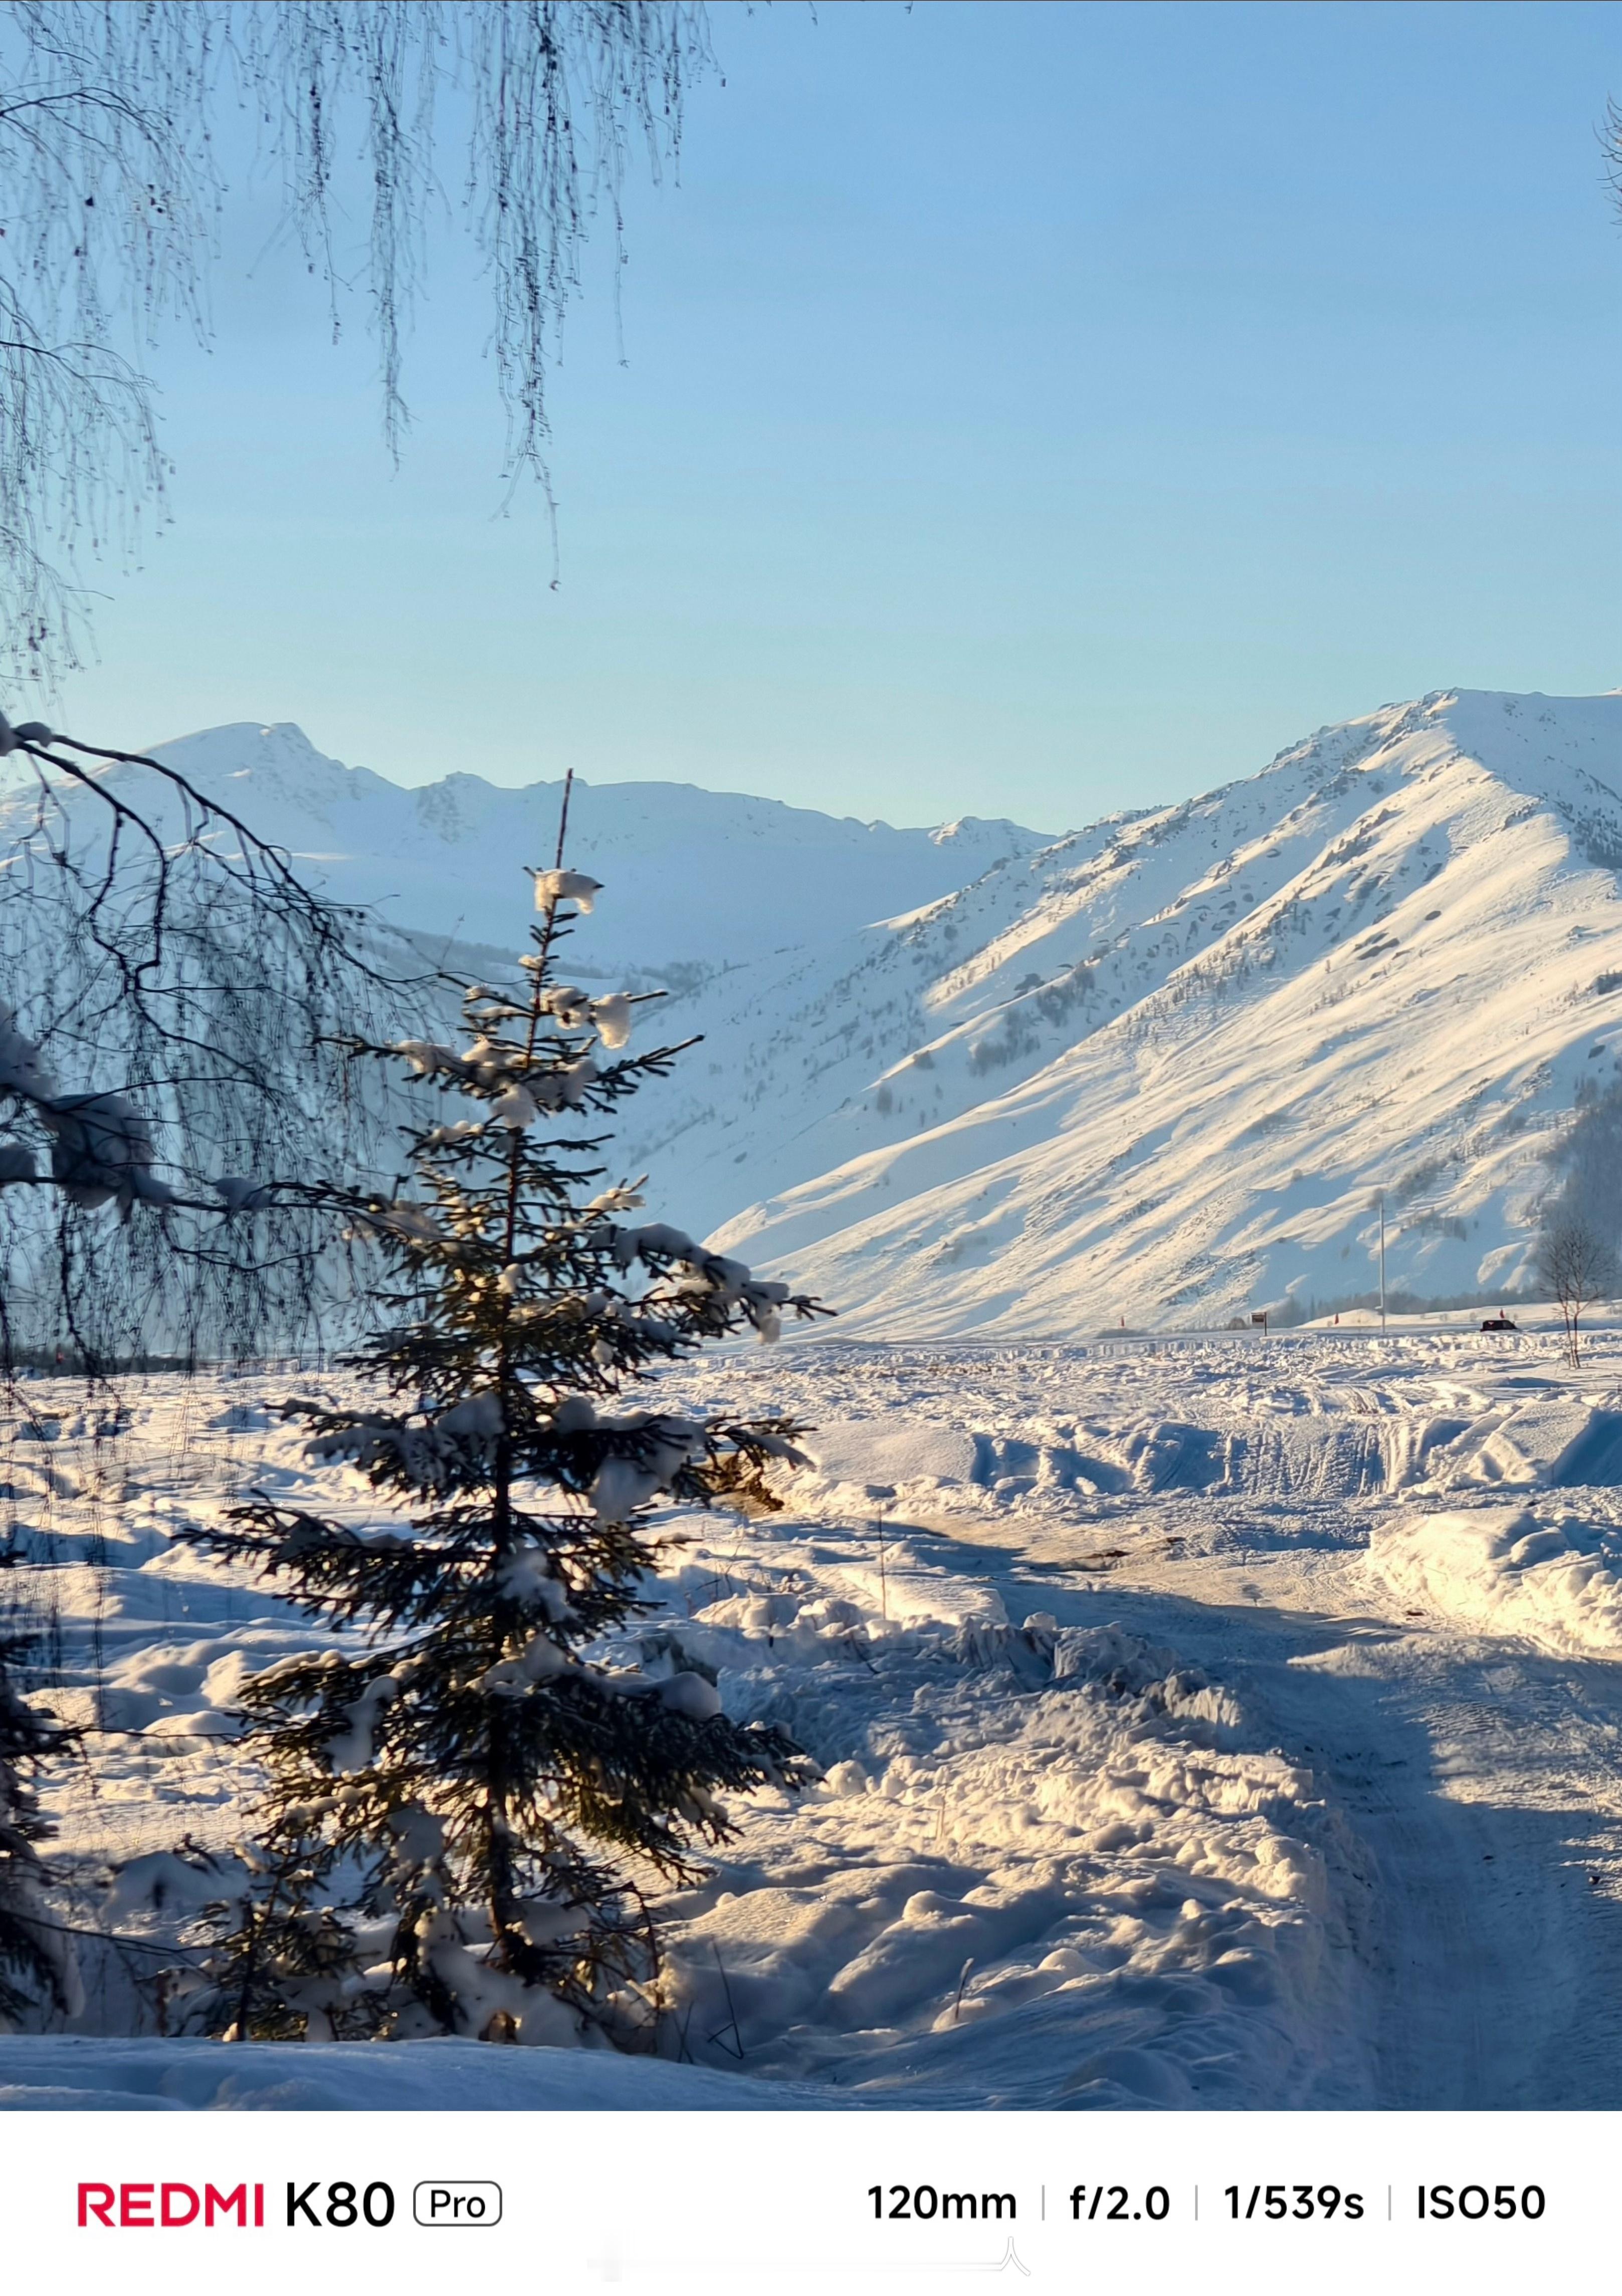
[[[1404,1603],[1544,1651],[1622,1658],[1622,1515],[1608,1508],[1404,1508],[1374,1527],[1369,1568]]]

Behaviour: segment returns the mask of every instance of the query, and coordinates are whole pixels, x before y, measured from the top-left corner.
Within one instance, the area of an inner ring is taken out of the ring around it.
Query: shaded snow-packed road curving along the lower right
[[[1241,1685],[1355,1835],[1365,2101],[1615,2108],[1622,1662],[1392,1619],[1358,1561],[1314,1561],[1133,1570],[1107,1609]],[[1018,1552],[995,1584],[1011,1612],[1096,1609]]]

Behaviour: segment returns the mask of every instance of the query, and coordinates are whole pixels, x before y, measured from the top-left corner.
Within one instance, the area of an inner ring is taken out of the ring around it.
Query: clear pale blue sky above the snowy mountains
[[[354,310],[230,227],[172,526],[57,716],[395,781],[675,778],[1048,829],[1434,687],[1622,684],[1613,5],[712,7],[542,503],[457,239],[395,473]],[[455,181],[455,165],[446,165]],[[358,227],[358,225],[356,225]],[[607,253],[607,250],[604,250]]]

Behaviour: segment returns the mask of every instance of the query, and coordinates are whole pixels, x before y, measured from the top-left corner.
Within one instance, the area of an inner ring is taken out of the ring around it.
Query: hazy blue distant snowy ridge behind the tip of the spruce
[[[152,755],[285,847],[331,900],[377,907],[402,932],[526,946],[524,868],[542,868],[556,850],[563,781],[512,790],[448,774],[402,790],[324,758],[299,726],[214,726]],[[113,788],[129,778],[131,769],[108,771]],[[101,808],[80,801],[80,810],[101,827]],[[0,801],[0,845],[28,817],[28,797]],[[165,820],[179,827],[175,808]],[[1043,843],[1013,822],[889,829],[687,783],[577,778],[567,859],[607,886],[586,951],[595,974],[627,964],[685,974],[848,934]]]

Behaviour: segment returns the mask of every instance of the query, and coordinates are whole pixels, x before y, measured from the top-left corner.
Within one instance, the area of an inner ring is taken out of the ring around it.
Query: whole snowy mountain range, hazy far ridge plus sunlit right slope
[[[163,755],[333,895],[519,944],[558,783],[402,790],[287,726]],[[703,1035],[625,1169],[850,1332],[1346,1302],[1381,1194],[1392,1293],[1498,1293],[1578,1107],[1622,1162],[1622,696],[1434,693],[1057,843],[577,783],[570,861],[570,971],[657,969]]]

